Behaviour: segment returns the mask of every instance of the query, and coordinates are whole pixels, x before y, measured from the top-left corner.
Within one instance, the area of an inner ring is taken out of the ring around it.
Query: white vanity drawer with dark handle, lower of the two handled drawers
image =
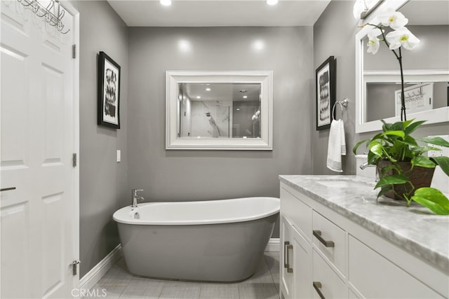
[[[344,281],[335,273],[330,266],[313,251],[313,279],[312,298],[320,298],[319,292],[324,298],[348,298],[348,288]]]

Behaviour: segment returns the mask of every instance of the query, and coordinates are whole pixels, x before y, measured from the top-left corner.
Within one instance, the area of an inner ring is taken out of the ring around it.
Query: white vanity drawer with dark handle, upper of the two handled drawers
[[[316,248],[346,276],[346,232],[316,211],[312,226]]]

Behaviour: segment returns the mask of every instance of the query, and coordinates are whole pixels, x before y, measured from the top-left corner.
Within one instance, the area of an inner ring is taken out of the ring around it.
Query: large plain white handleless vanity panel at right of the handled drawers
[[[365,298],[441,298],[422,281],[349,235],[349,281]]]

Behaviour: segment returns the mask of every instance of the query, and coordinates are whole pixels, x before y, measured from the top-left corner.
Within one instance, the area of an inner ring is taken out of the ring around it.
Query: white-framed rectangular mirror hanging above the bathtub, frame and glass
[[[167,71],[166,149],[272,150],[272,71]]]

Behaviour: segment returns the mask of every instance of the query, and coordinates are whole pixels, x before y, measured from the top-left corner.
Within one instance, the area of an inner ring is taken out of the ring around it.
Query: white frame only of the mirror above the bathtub
[[[260,83],[261,138],[178,138],[179,83]],[[273,149],[273,71],[166,71],[167,150]]]

